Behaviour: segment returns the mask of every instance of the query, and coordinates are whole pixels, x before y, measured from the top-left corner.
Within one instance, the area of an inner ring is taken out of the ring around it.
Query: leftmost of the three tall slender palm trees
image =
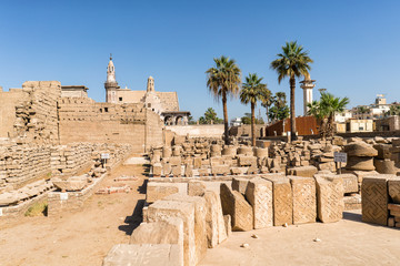
[[[228,96],[236,96],[239,93],[241,84],[241,71],[233,59],[224,55],[214,58],[214,68],[210,68],[207,73],[207,86],[217,100],[222,99],[224,143],[229,144],[228,135]]]

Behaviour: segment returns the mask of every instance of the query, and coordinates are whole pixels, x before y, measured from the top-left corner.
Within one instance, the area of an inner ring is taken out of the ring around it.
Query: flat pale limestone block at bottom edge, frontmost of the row
[[[149,256],[151,254],[151,256]],[[171,244],[118,244],[102,262],[102,266],[183,266],[179,246]]]

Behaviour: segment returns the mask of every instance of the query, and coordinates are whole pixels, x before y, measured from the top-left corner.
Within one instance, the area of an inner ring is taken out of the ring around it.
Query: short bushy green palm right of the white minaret
[[[349,102],[348,98],[340,99],[331,93],[321,92],[320,101],[308,104],[308,114],[321,121],[320,134],[322,139],[333,136],[336,133],[334,114],[344,112]]]

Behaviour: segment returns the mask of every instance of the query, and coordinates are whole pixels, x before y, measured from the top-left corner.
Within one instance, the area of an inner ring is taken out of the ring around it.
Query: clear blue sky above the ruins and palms
[[[316,89],[349,96],[350,106],[372,103],[378,93],[400,101],[399,11],[390,0],[1,1],[0,86],[58,80],[104,101],[112,52],[122,88],[146,90],[152,75],[156,90],[177,91],[194,119],[209,106],[222,117],[206,86],[212,59],[229,55],[243,78],[256,72],[272,92],[289,94],[289,81],[278,84],[269,65],[286,41],[297,40],[314,60]],[[301,115],[299,85],[296,104]],[[238,99],[228,103],[230,117],[249,111]]]

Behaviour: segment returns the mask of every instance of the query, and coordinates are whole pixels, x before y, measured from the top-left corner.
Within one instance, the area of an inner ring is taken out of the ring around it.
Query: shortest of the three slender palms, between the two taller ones
[[[246,83],[243,84],[242,90],[240,91],[240,101],[244,104],[250,103],[251,106],[251,143],[256,146],[256,115],[254,109],[257,101],[263,101],[264,96],[268,94],[267,84],[261,83],[262,78],[258,75],[249,74],[246,76]]]

